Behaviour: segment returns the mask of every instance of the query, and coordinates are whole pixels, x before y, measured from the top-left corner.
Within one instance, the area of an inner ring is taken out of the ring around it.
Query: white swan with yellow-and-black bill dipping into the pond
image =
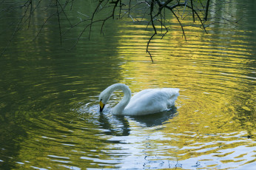
[[[104,89],[99,96],[100,112],[104,109],[112,92],[118,89],[124,92],[124,98],[112,109],[114,115],[148,115],[163,112],[175,104],[179,95],[179,89],[164,88],[144,89],[132,97],[132,92],[127,85],[113,84]]]

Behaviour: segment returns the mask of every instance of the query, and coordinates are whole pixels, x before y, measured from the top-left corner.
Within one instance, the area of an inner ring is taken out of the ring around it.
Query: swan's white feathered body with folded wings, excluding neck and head
[[[174,105],[179,89],[146,89],[138,92],[124,109],[125,115],[147,115],[162,112]]]

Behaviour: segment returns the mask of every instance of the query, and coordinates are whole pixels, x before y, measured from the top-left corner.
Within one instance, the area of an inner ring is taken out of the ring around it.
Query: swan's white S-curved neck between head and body
[[[132,97],[132,92],[125,84],[113,84],[112,86],[109,86],[109,88],[111,93],[118,89],[121,89],[124,92],[124,98],[122,98],[122,100],[112,109],[113,114],[120,115],[129,103],[129,100]]]

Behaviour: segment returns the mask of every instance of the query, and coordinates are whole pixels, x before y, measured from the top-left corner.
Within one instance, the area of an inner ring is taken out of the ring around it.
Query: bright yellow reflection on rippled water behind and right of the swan
[[[240,152],[234,151],[240,146],[255,146],[247,138],[255,135],[255,79],[247,77],[252,50],[246,37],[225,37],[215,28],[206,35],[189,27],[185,42],[181,31],[171,27],[164,39],[159,35],[151,42],[149,50],[155,61],[151,64],[146,43],[152,32],[141,36],[141,29],[136,24],[132,30],[130,26],[127,30],[121,27],[121,82],[128,84],[132,92],[155,87],[181,89],[176,101],[178,116],[169,120],[162,131],[166,140],[152,143],[177,146],[175,152],[169,152],[179,160],[212,155],[209,160],[224,157],[220,163],[249,163],[243,160],[245,154],[238,156]],[[229,157],[234,154],[234,159]]]

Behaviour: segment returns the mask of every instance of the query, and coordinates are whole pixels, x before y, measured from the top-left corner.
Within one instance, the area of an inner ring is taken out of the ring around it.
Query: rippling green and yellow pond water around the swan
[[[231,6],[242,25],[186,27],[187,42],[173,24],[152,41],[154,64],[144,24],[110,20],[104,35],[95,26],[68,51],[81,28],[61,46],[53,19],[32,41],[46,15],[37,13],[0,58],[0,169],[255,169],[255,3],[247,2]],[[17,19],[8,15],[1,50]],[[115,83],[181,95],[169,112],[129,117],[110,113],[116,92],[100,114],[98,95]]]

